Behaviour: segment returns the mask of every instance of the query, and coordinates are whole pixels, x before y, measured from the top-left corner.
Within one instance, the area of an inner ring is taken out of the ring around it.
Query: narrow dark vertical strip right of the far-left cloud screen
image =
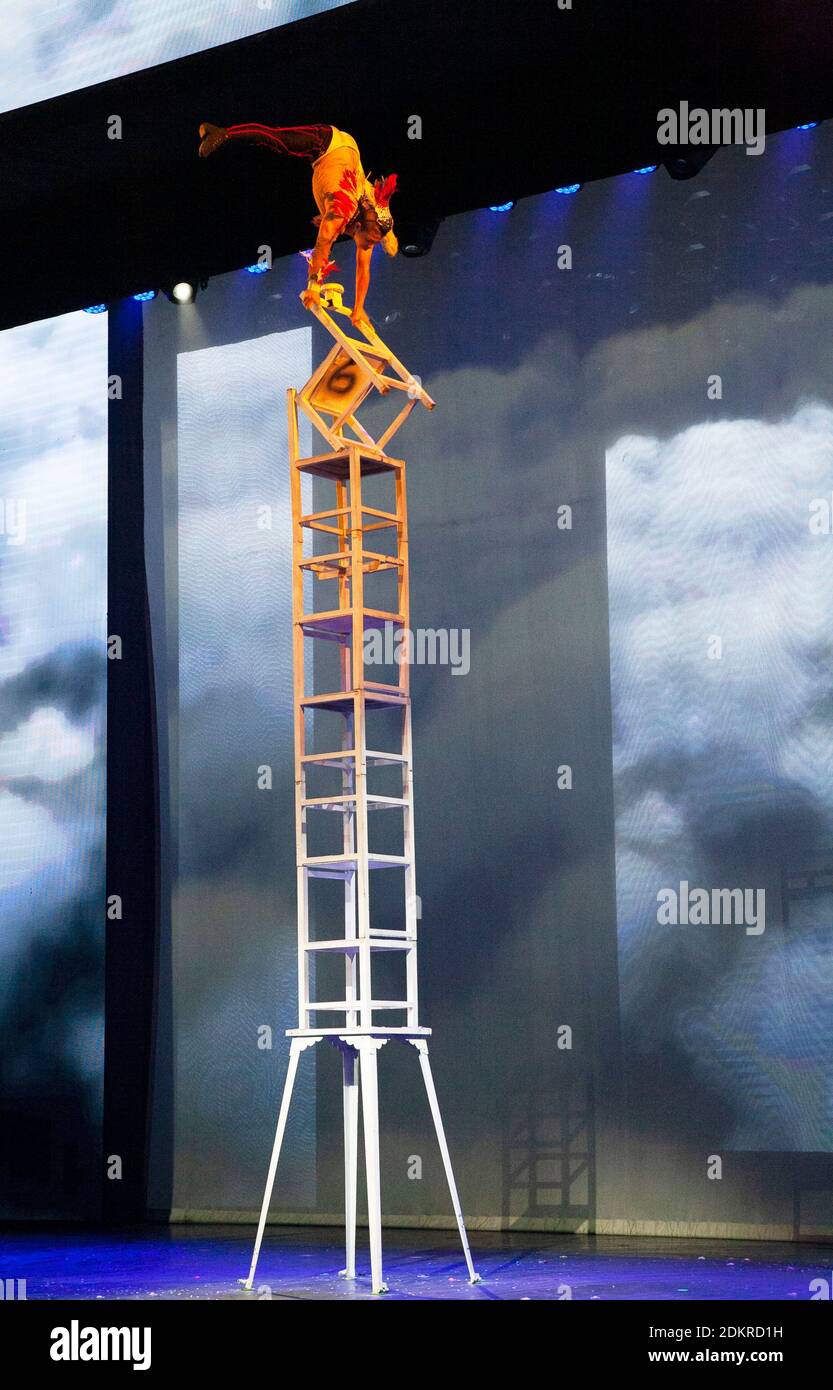
[[[145,573],[142,309],[110,310],[106,1220],[145,1213],[159,940],[159,773]],[[121,651],[114,653],[114,639]],[[114,906],[115,899],[118,905]],[[120,1165],[117,1163],[120,1161]],[[121,1176],[115,1176],[117,1173]]]

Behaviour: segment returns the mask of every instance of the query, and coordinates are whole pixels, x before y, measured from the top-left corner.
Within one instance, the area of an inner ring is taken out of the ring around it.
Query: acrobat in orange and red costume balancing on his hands
[[[309,260],[309,281],[303,293],[307,309],[320,302],[321,284],[335,270],[330,252],[338,236],[346,232],[356,243],[356,299],[352,321],[356,327],[371,328],[364,314],[364,297],[370,285],[370,259],[381,243],[388,256],[395,256],[399,242],[394,235],[389,202],[396,189],[396,175],[370,182],[362,168],[359,146],[352,135],[334,125],[200,125],[203,158],[228,140],[250,140],[275,154],[295,154],[313,165],[313,197],[318,217],[314,250]],[[373,329],[371,329],[373,331]]]

